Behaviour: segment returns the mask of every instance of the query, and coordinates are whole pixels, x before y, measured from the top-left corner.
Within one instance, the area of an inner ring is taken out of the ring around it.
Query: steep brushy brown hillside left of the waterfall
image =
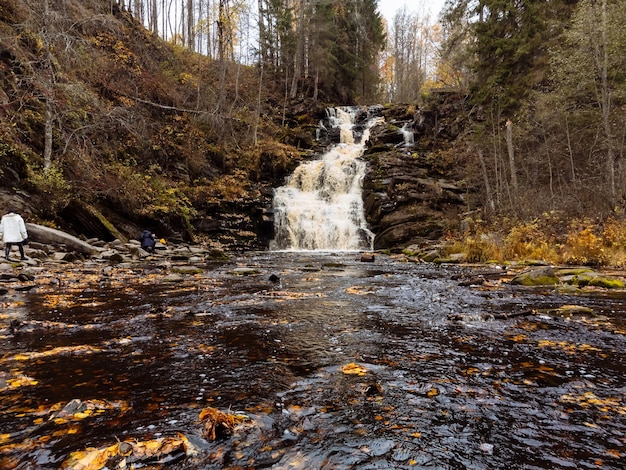
[[[164,43],[109,1],[41,3],[0,6],[3,206],[88,237],[262,247],[269,188],[312,145],[281,125],[271,82],[259,100],[253,68]]]

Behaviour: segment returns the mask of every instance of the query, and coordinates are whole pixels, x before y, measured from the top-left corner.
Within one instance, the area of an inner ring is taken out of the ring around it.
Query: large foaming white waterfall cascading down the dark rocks
[[[332,127],[339,127],[341,143],[319,160],[296,168],[287,184],[274,193],[273,250],[352,251],[371,249],[374,234],[367,228],[361,195],[370,120],[355,142],[352,128],[358,108],[328,110]]]

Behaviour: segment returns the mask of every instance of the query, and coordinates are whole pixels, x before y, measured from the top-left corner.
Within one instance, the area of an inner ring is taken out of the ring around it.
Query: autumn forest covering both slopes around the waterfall
[[[449,0],[388,23],[376,0],[7,0],[4,199],[88,235],[150,224],[249,248],[325,107],[417,115],[443,90],[458,132],[433,156],[474,196],[447,237],[546,257],[576,238],[571,261],[620,264],[624,3]]]

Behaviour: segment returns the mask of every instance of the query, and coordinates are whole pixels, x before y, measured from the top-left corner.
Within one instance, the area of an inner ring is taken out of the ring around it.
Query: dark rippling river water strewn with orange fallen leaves
[[[0,467],[180,433],[195,455],[143,468],[626,468],[623,292],[357,253],[196,267],[48,269],[5,296],[3,321],[50,323],[0,342]],[[119,406],[51,419],[72,400]],[[250,421],[204,440],[207,406]]]

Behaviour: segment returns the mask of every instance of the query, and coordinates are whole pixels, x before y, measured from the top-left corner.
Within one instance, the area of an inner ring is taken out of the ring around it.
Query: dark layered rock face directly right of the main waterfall
[[[363,158],[367,220],[376,249],[402,249],[440,239],[458,227],[467,190],[446,152],[460,132],[454,106],[432,111],[406,106],[383,110],[385,123],[370,132]]]

